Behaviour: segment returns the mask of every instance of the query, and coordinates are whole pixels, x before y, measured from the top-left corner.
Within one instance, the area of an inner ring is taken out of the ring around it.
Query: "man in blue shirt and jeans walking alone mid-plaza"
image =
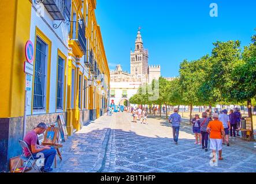
[[[170,115],[169,122],[172,124],[173,140],[175,144],[178,144],[181,116],[178,114],[178,109],[174,109],[174,113]]]

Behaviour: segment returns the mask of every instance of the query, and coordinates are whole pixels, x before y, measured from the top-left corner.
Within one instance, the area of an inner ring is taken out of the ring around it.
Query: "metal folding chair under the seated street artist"
[[[23,162],[26,163],[26,164],[25,164],[25,167],[24,167],[24,170],[23,170],[21,173],[24,173],[25,168],[27,167],[27,164],[28,164],[28,163],[31,164],[31,166],[34,168],[34,170],[36,170],[36,168],[37,168],[37,170],[38,170],[40,173],[42,173],[42,171],[40,170],[40,168],[36,165],[36,160],[38,160],[38,159],[34,159],[34,157],[33,157],[32,153],[31,153],[31,151],[30,151],[29,148],[28,148],[28,144],[25,143],[23,140],[19,140],[18,142],[20,143],[20,145],[21,145],[21,147],[22,147],[22,149],[23,149],[23,154],[20,156],[20,159],[18,160],[18,163],[19,163],[21,160],[23,160]],[[27,150],[28,150],[28,152],[29,152],[29,155],[30,155],[30,156],[28,156],[28,157],[25,156],[25,151],[24,151],[25,148],[27,148]],[[18,163],[17,163],[16,167],[14,168],[14,171],[16,170],[16,168],[17,168],[17,166],[18,166]],[[34,165],[36,166],[36,168],[35,168]]]

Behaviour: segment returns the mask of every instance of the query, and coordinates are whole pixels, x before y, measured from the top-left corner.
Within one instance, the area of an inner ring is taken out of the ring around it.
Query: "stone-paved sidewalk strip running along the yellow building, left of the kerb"
[[[101,170],[106,155],[110,125],[114,118],[103,116],[69,137],[61,150],[54,173],[95,173]]]

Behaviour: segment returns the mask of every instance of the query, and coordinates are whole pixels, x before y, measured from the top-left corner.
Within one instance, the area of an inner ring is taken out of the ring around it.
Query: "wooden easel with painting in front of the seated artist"
[[[58,140],[60,139],[59,138],[59,131],[60,131],[60,129],[55,127],[54,125],[51,125],[51,127],[48,127],[46,129],[46,133],[44,134],[44,139],[43,139],[42,145],[54,147],[55,150],[57,151],[57,155],[59,156],[60,160],[62,160],[60,148],[62,148],[63,145],[62,144],[58,144]],[[47,139],[47,133],[48,132],[54,132],[54,137],[53,137],[53,139],[51,141],[49,139]],[[55,164],[55,168],[56,168],[56,166],[57,166],[56,157],[55,157],[55,161],[54,162],[55,162],[54,164]]]

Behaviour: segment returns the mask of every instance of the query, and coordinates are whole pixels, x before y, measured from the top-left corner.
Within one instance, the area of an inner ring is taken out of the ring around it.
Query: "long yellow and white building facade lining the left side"
[[[71,136],[106,112],[110,72],[94,12],[97,2],[48,2],[0,1],[0,171],[21,154],[18,140],[39,122],[56,122],[63,115]],[[34,44],[31,86],[24,74],[28,40]]]

